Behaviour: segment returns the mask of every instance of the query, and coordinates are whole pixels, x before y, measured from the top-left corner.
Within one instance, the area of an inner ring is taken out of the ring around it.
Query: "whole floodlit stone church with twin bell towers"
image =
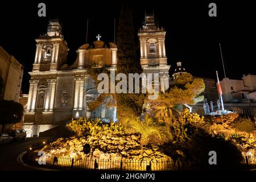
[[[161,92],[169,88],[170,65],[167,65],[165,35],[166,31],[156,26],[154,13],[145,14],[145,23],[138,32],[141,66],[146,75],[159,73]],[[102,42],[98,35],[93,45],[86,43],[77,49],[75,63],[68,65],[69,49],[58,20],[50,20],[47,34],[35,40],[35,61],[29,72],[30,89],[23,122],[27,136],[38,136],[40,132],[62,125],[71,118],[114,120],[115,107],[107,107],[104,103],[95,110],[88,107],[88,102],[100,96],[89,68],[97,65],[109,71],[115,70],[117,46]]]

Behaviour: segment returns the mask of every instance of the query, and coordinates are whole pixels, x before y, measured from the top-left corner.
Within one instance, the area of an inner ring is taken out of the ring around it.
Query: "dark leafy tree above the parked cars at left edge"
[[[0,125],[2,125],[2,131],[5,129],[5,125],[18,123],[23,116],[23,106],[15,101],[0,100]]]

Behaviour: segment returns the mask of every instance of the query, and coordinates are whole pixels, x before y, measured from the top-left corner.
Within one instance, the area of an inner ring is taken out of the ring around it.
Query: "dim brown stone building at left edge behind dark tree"
[[[3,79],[3,92],[0,99],[19,101],[23,77],[23,65],[0,46],[0,77]]]

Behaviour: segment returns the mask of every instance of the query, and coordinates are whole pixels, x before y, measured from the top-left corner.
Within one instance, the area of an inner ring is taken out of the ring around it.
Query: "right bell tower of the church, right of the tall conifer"
[[[143,73],[159,73],[160,91],[169,88],[169,69],[167,65],[166,31],[155,22],[154,11],[145,11],[142,28],[138,32],[141,47],[141,67]]]

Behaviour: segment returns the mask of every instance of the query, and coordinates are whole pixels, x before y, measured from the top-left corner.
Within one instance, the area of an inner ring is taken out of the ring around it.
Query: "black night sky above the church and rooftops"
[[[46,17],[38,16],[38,3],[46,3]],[[89,2],[89,4],[86,4]],[[217,4],[217,17],[208,15],[210,2]],[[115,1],[7,1],[0,5],[0,45],[24,65],[23,93],[28,93],[28,71],[32,70],[36,50],[35,38],[46,33],[49,19],[58,18],[70,49],[68,63],[76,60],[76,50],[101,34],[104,42],[114,41],[114,18],[122,2]],[[139,4],[138,4],[139,3]],[[251,1],[130,1],[134,10],[135,42],[142,27],[144,10],[154,9],[166,34],[166,52],[170,73],[177,60],[195,76],[224,77],[220,56],[221,43],[226,76],[241,79],[255,73],[255,10]],[[117,28],[116,28],[117,29]],[[139,55],[138,55],[139,57]]]

